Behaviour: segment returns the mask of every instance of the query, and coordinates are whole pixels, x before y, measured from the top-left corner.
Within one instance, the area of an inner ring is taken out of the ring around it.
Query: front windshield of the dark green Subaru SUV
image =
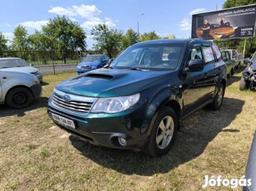
[[[163,69],[174,70],[178,66],[178,59],[183,44],[149,44],[129,47],[112,63],[113,68],[119,69]]]

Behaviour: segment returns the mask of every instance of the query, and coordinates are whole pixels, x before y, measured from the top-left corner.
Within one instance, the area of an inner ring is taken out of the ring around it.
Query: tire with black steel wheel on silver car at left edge
[[[13,109],[27,107],[33,101],[32,93],[24,87],[16,87],[8,92],[6,103]]]

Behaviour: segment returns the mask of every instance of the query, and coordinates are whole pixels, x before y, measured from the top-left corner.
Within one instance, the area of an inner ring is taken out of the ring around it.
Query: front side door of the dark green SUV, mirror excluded
[[[193,59],[202,59],[205,61],[204,54],[202,45],[193,45],[189,48],[188,59],[185,61],[185,65],[188,66],[188,62]],[[214,56],[211,58],[214,61]],[[213,91],[213,84],[211,84],[208,78],[211,67],[207,65],[208,63],[206,62],[203,71],[188,71],[186,74],[183,83],[183,115],[188,115],[206,103],[209,99],[208,95]]]

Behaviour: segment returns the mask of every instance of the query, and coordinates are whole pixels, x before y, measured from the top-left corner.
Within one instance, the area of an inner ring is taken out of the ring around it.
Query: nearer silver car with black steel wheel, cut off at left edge
[[[42,86],[37,76],[0,70],[0,104],[20,109],[32,104],[33,98],[41,94]]]

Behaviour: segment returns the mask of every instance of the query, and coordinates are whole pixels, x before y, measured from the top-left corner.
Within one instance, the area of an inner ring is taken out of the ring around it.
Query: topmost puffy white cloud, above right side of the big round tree
[[[84,5],[84,4],[80,6],[73,5],[72,10],[73,12],[76,12],[79,16],[85,17],[85,18],[95,17],[102,12],[95,5]]]

